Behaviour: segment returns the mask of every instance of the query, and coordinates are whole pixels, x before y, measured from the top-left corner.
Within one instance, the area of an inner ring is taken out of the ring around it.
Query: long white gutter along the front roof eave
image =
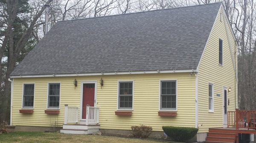
[[[61,77],[61,76],[100,76],[100,75],[125,75],[125,74],[147,74],[147,73],[189,73],[197,70],[155,70],[155,71],[128,71],[128,72],[102,72],[102,73],[71,73],[71,74],[51,74],[51,75],[20,75],[10,76],[11,78],[35,78],[35,77]]]

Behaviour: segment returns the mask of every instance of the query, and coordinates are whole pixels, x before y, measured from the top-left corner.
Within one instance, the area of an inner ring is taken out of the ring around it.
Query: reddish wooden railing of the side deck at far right
[[[256,129],[256,110],[229,111],[227,115],[228,127]]]

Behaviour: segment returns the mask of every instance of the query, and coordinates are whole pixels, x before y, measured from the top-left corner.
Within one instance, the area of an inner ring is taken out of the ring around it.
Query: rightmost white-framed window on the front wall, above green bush
[[[177,81],[160,81],[160,109],[177,110]]]

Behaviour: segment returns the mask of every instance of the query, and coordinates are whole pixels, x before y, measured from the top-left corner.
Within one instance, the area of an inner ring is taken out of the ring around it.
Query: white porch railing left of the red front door
[[[78,123],[78,107],[68,107],[65,105],[65,118],[64,124]]]

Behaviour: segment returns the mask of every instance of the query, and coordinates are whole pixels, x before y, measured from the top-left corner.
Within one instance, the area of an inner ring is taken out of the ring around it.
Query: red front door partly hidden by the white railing
[[[82,119],[86,119],[86,105],[94,107],[95,84],[83,84],[83,110]]]

